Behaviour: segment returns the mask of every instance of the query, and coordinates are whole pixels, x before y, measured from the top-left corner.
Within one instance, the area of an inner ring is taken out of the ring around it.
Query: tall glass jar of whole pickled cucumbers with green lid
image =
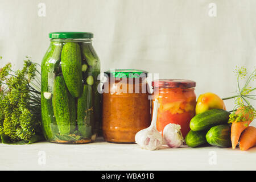
[[[101,127],[100,60],[89,32],[51,32],[43,57],[44,136],[55,143],[89,143]]]

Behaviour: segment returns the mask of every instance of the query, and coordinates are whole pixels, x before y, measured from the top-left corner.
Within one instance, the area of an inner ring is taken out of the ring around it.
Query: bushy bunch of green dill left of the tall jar
[[[0,135],[11,142],[30,141],[42,134],[37,64],[26,59],[23,65],[18,71],[10,63],[0,69]]]

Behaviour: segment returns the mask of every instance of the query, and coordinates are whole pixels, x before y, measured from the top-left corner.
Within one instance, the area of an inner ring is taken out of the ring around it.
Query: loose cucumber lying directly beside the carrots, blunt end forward
[[[229,125],[213,126],[206,135],[207,142],[212,146],[230,147],[231,129]]]

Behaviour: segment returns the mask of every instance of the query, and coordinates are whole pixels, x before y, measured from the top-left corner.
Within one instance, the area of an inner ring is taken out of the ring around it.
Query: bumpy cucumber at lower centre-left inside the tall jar
[[[72,101],[74,100],[74,101]],[[63,76],[55,77],[52,96],[53,112],[60,134],[69,134],[75,128],[76,121],[75,98],[69,94]]]

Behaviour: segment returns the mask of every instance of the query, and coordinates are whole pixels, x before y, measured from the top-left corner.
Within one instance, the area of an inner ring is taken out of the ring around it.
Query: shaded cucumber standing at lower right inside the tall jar
[[[77,100],[77,127],[83,137],[92,137],[93,107],[90,85],[84,85],[82,96]]]

